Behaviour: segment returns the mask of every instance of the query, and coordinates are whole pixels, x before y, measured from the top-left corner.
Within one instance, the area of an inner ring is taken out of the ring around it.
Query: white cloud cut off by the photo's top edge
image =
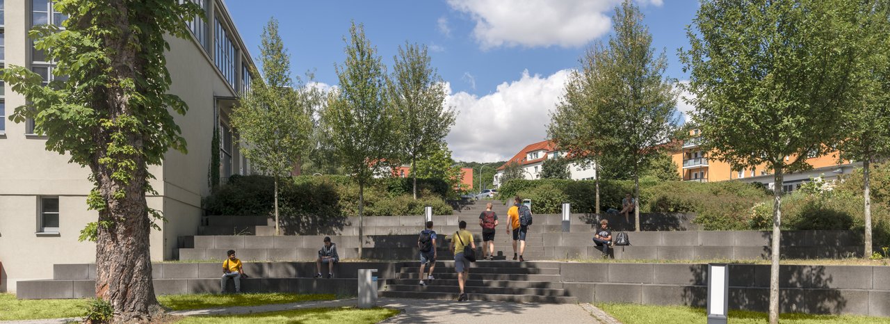
[[[475,21],[473,36],[482,49],[506,46],[578,47],[611,28],[619,0],[449,0],[452,9]],[[637,0],[661,6],[663,0]],[[440,18],[440,29],[441,29]]]

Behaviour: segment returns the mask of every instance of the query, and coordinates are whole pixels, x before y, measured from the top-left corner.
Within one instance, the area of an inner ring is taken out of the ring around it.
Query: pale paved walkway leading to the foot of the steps
[[[276,312],[305,308],[355,306],[355,299],[294,304],[237,306],[191,311],[174,311],[171,315],[224,315],[254,312]],[[379,298],[380,307],[401,310],[384,323],[603,323],[620,324],[590,304],[518,304],[506,302],[455,302],[408,298]],[[0,321],[17,324],[63,324],[80,319]]]

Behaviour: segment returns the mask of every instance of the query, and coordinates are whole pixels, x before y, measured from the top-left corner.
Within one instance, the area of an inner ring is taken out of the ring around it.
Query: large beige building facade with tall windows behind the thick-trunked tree
[[[189,106],[185,116],[172,113],[189,153],[170,150],[161,166],[150,167],[158,193],[147,197],[148,205],[166,217],[158,223],[161,231],[150,234],[154,261],[177,258],[179,238],[197,231],[201,198],[210,192],[210,167],[220,168],[223,181],[250,172],[228,116],[239,94],[249,89],[254,62],[222,0],[189,1],[202,5],[207,18],[189,23],[188,39],[168,36],[166,53],[173,80],[169,92]],[[34,49],[28,29],[61,26],[67,17],[47,0],[0,0],[0,11],[0,63],[27,67],[44,80],[55,77],[53,62]],[[98,214],[86,207],[93,189],[88,168],[44,150],[46,138],[35,134],[33,122],[10,122],[12,108],[25,98],[6,85],[0,91],[0,292],[14,292],[19,280],[52,278],[54,263],[93,263],[95,245],[77,238]],[[219,163],[211,161],[214,132],[219,132]]]

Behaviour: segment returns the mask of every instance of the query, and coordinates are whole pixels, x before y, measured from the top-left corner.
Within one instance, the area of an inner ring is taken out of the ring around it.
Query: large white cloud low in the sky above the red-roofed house
[[[522,72],[519,80],[498,85],[495,93],[479,97],[451,93],[447,103],[457,110],[457,121],[445,138],[453,158],[493,162],[512,158],[533,142],[546,139],[549,111],[563,92],[570,70],[549,77]]]

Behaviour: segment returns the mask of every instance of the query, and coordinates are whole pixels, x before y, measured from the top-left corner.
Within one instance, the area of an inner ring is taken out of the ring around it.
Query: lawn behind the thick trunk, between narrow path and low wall
[[[167,295],[158,302],[172,310],[189,310],[224,306],[254,306],[332,300],[334,295],[241,294],[241,295]],[[89,299],[16,299],[13,294],[0,294],[0,320],[37,320],[80,317],[86,312]]]

